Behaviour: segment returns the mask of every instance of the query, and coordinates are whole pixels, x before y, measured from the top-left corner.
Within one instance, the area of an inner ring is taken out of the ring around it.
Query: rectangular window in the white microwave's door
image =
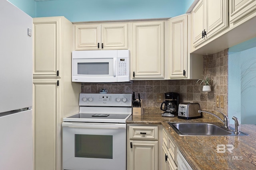
[[[109,74],[109,63],[77,63],[77,73],[85,75]]]

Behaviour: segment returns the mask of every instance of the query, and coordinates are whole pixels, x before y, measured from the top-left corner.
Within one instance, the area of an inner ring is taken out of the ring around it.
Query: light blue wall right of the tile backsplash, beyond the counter
[[[229,49],[228,117],[256,125],[256,38]],[[234,124],[234,123],[232,123]]]

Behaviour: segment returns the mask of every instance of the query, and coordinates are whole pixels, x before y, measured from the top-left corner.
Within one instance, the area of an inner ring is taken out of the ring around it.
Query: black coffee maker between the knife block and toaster
[[[175,92],[168,92],[164,94],[165,101],[162,102],[160,109],[164,111],[162,116],[174,117],[178,113],[179,94]],[[164,108],[163,108],[164,107]]]

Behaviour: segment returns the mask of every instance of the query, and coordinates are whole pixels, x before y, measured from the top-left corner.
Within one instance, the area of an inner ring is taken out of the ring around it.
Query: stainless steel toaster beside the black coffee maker
[[[202,114],[198,113],[200,105],[198,103],[180,103],[178,108],[178,118],[180,119],[197,119]]]

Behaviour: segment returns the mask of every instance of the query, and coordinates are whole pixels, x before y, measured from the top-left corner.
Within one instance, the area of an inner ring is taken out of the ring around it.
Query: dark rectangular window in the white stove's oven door
[[[75,134],[75,157],[112,159],[113,136]]]

